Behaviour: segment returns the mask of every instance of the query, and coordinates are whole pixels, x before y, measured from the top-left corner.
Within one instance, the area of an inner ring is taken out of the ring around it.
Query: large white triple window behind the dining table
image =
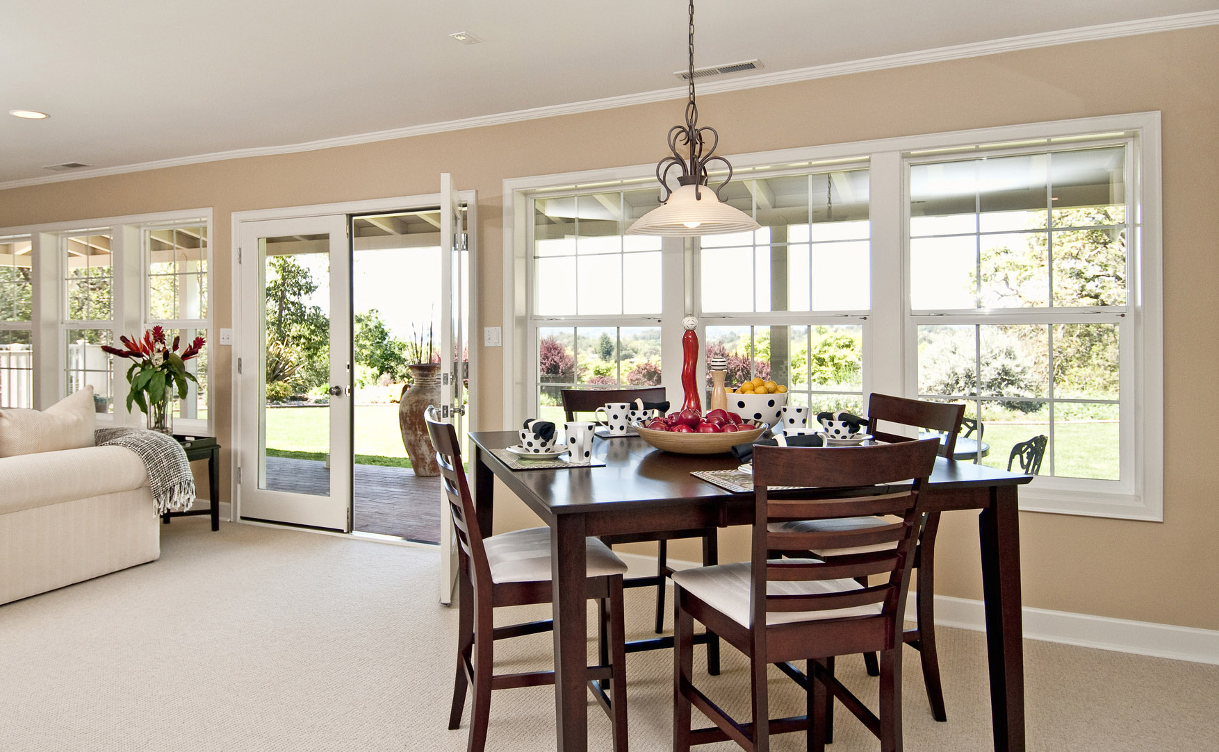
[[[506,422],[561,385],[642,383],[642,352],[679,399],[692,311],[730,383],[770,378],[818,410],[964,402],[981,463],[1047,438],[1022,508],[1163,518],[1158,113],[730,160],[725,200],[761,229],[658,245],[623,235],[655,206],[649,166],[505,183]],[[628,303],[628,256],[657,251]]]

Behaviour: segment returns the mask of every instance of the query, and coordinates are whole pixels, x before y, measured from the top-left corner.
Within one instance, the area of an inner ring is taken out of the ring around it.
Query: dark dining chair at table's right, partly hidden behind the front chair
[[[924,402],[874,392],[868,399],[868,433],[881,441],[907,442],[911,441],[911,438],[892,433],[892,429],[889,429],[890,424],[929,429],[940,434],[940,456],[952,457],[957,449],[957,434],[961,433],[964,413],[964,405]],[[881,430],[881,424],[889,430]],[[878,517],[861,517],[834,524],[879,528],[889,522]],[[824,528],[825,523],[803,520],[790,523],[787,527],[792,530],[816,531]],[[904,641],[919,651],[923,683],[926,685],[926,698],[931,706],[931,715],[936,720],[947,720],[948,714],[944,706],[944,685],[940,680],[940,658],[935,644],[935,535],[939,528],[939,512],[929,512],[924,516],[914,556],[914,568],[918,570],[914,589],[918,618],[915,628],[906,630]],[[803,552],[785,551],[783,553],[784,556],[800,556]],[[876,656],[867,652],[863,657],[868,674],[879,675]]]

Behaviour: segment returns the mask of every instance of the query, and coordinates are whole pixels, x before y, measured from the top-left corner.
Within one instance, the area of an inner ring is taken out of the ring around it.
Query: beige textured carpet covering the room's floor
[[[445,729],[457,614],[436,603],[436,572],[434,551],[176,519],[158,562],[0,606],[0,750],[464,750],[467,726]],[[629,633],[649,631],[650,594],[628,591]],[[950,720],[931,720],[906,651],[906,748],[989,750],[983,635],[940,635]],[[544,664],[549,640],[517,640],[500,664]],[[628,661],[631,748],[668,750],[672,653]],[[1030,750],[1217,747],[1219,667],[1032,641],[1025,665]],[[744,672],[728,648],[707,687],[745,707]],[[874,703],[861,659],[839,673]],[[789,680],[775,686],[777,712],[803,707]],[[605,715],[589,718],[590,748],[610,750]],[[837,718],[833,752],[879,748]],[[495,692],[489,750],[553,745],[550,687]]]

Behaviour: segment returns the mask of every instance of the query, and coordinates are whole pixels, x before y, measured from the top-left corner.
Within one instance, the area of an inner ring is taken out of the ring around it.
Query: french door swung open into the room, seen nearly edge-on
[[[449,173],[440,176],[440,250],[445,258],[440,264],[441,308],[441,374],[440,412],[466,440],[466,380],[469,378],[469,250],[467,247],[466,211],[461,197],[453,190]],[[464,451],[463,451],[464,455]],[[457,581],[457,544],[453,537],[452,516],[444,489],[440,491],[440,602],[452,600]]]

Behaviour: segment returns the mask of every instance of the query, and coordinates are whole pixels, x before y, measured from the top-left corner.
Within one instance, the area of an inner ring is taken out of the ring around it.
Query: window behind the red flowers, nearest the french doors
[[[160,324],[180,347],[207,339],[207,224],[151,224],[143,229],[145,258],[145,327]],[[187,361],[199,380],[187,381],[187,396],[174,400],[174,419],[207,419],[207,363],[211,347]],[[187,424],[189,425],[189,424]]]

